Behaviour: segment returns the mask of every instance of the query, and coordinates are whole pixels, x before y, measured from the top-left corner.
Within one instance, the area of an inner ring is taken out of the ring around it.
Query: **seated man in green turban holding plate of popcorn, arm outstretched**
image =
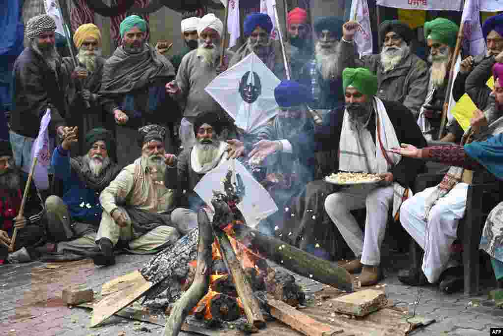
[[[368,188],[348,188],[328,195],[325,210],[357,258],[342,265],[350,273],[363,267],[360,281],[370,286],[381,280],[380,247],[389,210],[398,213],[402,199],[425,164],[388,151],[400,143],[426,146],[420,128],[405,106],[379,99],[377,76],[364,68],[343,71],[346,106],[330,113],[313,133],[299,134],[279,142],[262,140],[250,153],[252,160],[276,151],[307,158],[313,151],[339,151],[339,171],[378,174],[382,181]],[[337,172],[337,171],[336,171]],[[351,210],[366,208],[365,236]],[[395,217],[396,219],[396,217]],[[317,225],[314,216],[312,225]]]

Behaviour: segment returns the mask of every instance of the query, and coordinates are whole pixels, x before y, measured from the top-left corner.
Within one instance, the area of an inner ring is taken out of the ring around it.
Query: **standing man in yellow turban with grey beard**
[[[91,129],[103,127],[105,122],[103,109],[98,103],[98,92],[105,65],[105,58],[101,55],[100,29],[92,23],[79,26],[73,34],[73,44],[78,51],[78,66],[87,70],[88,77],[85,81],[69,79],[65,90],[65,100],[68,106],[65,119],[67,125],[78,126],[77,137],[83,138]],[[73,71],[71,57],[64,57],[63,65],[68,73]],[[85,101],[89,102],[90,108],[86,107]],[[87,149],[83,142],[79,142],[78,146],[72,148],[72,152],[72,155],[81,156],[87,153]]]

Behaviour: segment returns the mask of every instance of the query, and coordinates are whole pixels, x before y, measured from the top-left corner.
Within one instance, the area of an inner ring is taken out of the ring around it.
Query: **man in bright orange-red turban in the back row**
[[[312,58],[314,52],[307,12],[298,7],[288,12],[287,28],[290,44],[296,48],[292,48],[290,55],[292,77],[298,78],[302,67]]]

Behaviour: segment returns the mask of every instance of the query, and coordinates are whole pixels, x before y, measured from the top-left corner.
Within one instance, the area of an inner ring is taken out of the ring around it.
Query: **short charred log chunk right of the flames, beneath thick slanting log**
[[[298,306],[306,298],[295,278],[285,272],[271,270],[266,278],[266,288],[268,294],[290,306]]]

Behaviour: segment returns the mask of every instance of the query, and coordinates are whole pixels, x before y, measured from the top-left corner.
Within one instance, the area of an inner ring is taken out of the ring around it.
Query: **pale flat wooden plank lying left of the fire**
[[[123,284],[124,288],[118,292],[107,295],[95,305],[93,317],[91,319],[91,327],[97,326],[122,308],[127,307],[153,286],[153,284],[146,281],[138,271],[130,275],[132,278],[129,279],[127,283]],[[118,282],[117,285],[119,284]]]

